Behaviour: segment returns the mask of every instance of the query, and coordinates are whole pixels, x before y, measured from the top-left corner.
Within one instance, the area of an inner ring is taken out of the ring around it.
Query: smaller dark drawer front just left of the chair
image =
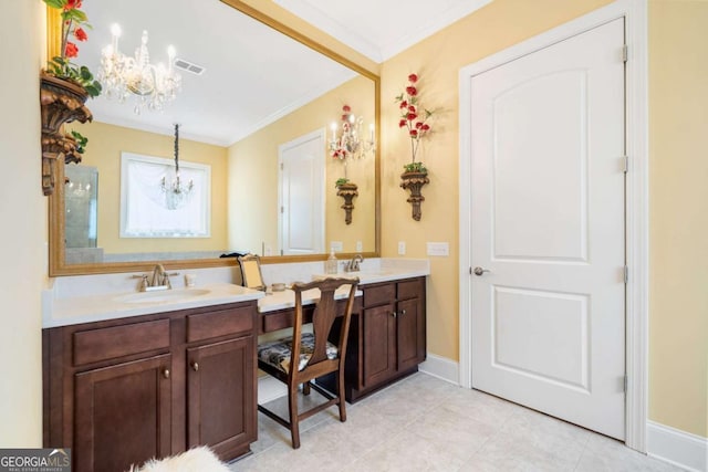
[[[187,316],[187,343],[219,336],[250,334],[256,326],[256,307],[238,306]]]

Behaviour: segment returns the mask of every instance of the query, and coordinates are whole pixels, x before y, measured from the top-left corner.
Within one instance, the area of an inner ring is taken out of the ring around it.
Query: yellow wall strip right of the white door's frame
[[[708,436],[708,2],[649,2],[649,418]]]

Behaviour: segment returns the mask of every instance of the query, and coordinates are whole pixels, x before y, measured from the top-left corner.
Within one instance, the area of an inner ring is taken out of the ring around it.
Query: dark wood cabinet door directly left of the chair
[[[187,443],[222,459],[257,438],[253,336],[187,349]]]

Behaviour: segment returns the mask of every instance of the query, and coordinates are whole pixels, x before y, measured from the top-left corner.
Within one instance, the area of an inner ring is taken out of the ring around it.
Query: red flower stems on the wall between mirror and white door
[[[396,102],[398,103],[398,109],[400,109],[398,127],[405,128],[410,138],[412,160],[409,164],[406,164],[404,168],[406,171],[425,172],[427,169],[423,162],[416,162],[416,154],[418,153],[420,139],[430,133],[431,128],[427,120],[433,115],[433,112],[420,107],[418,103],[418,88],[416,86],[417,82],[417,74],[408,75],[406,91],[396,96]]]

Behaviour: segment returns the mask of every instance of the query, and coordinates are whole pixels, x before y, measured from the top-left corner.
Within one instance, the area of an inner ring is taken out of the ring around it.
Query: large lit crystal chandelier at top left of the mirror
[[[153,65],[147,51],[147,31],[143,31],[140,45],[135,49],[134,57],[118,51],[121,27],[114,24],[111,34],[111,44],[101,52],[101,70],[97,73],[105,95],[119,103],[134,96],[134,112],[138,115],[145,107],[159,111],[175,99],[181,85],[181,76],[173,67],[175,49],[167,49],[167,67],[162,63]]]

